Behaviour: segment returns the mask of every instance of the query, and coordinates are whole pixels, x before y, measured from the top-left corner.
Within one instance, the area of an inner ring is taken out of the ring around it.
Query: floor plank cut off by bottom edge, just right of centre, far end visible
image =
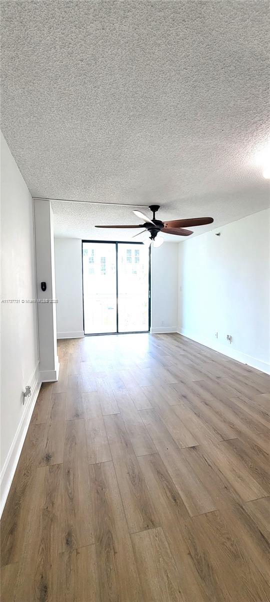
[[[181,580],[161,527],[131,535],[144,600],[184,602]]]

